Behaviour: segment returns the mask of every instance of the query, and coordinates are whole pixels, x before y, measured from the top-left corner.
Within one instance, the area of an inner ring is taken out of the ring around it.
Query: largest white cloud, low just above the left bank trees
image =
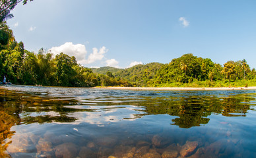
[[[87,54],[86,48],[82,44],[73,44],[72,42],[66,42],[65,44],[59,47],[52,47],[49,49],[53,55],[59,53],[65,53],[70,57],[74,56],[77,59],[77,62],[82,64],[86,63],[85,56]]]

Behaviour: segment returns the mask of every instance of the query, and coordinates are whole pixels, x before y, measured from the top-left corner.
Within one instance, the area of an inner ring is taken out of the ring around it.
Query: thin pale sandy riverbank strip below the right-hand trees
[[[177,91],[189,91],[189,90],[256,90],[256,87],[238,87],[238,88],[139,88],[139,87],[96,87],[96,89],[108,89],[108,90],[177,90]]]

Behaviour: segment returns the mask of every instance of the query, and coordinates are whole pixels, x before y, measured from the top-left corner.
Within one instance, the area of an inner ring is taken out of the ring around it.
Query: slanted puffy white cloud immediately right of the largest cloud
[[[89,55],[88,59],[86,60],[87,64],[91,64],[94,63],[95,61],[100,61],[104,58],[104,54],[107,52],[108,50],[106,49],[106,47],[101,47],[100,51],[98,51],[97,48],[92,48],[92,53]]]

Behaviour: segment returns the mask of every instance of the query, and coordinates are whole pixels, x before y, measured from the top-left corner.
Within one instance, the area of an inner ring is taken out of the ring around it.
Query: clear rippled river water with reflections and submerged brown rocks
[[[0,93],[0,157],[256,157],[255,90]]]

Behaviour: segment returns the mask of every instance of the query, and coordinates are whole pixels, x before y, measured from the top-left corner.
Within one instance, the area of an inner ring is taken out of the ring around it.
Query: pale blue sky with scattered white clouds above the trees
[[[256,1],[34,0],[7,21],[25,49],[86,67],[170,63],[185,53],[256,68]]]

